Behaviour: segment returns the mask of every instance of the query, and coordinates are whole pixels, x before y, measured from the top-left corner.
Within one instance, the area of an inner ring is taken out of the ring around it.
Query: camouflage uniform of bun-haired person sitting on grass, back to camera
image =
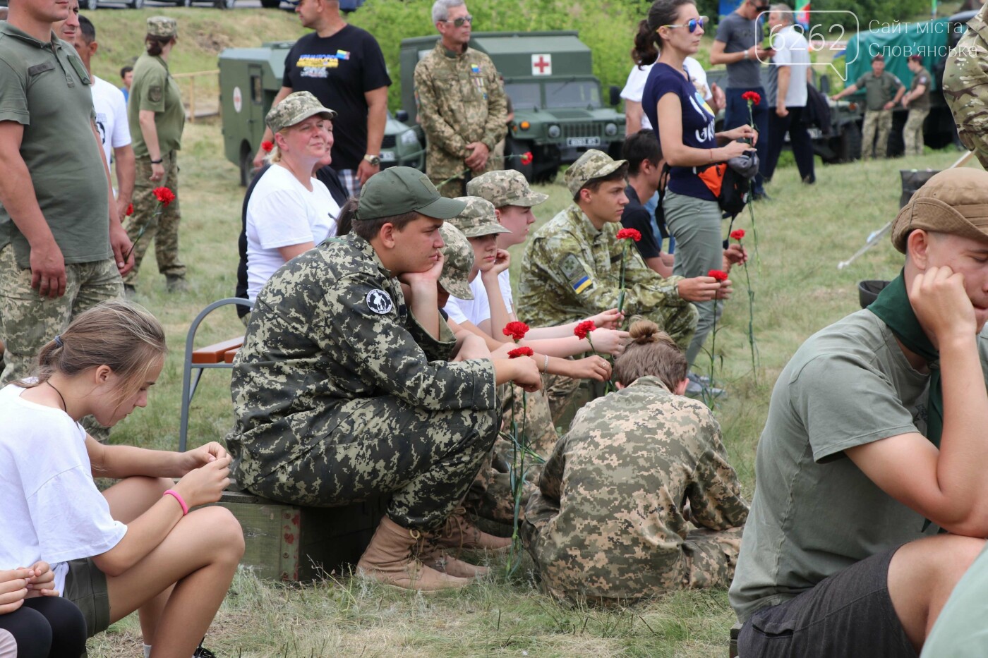
[[[558,598],[630,602],[733,577],[748,505],[720,427],[658,377],[585,406],[538,488],[523,538]]]

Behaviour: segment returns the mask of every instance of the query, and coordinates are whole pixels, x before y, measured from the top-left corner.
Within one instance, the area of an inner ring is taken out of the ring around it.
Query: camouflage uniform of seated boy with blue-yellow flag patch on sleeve
[[[624,249],[621,228],[597,230],[578,206],[569,206],[535,231],[522,258],[518,315],[539,326],[575,322],[617,308],[624,253],[624,313],[655,322],[686,349],[697,329],[697,307],[679,295],[682,277],[663,279],[641,260],[634,245]]]

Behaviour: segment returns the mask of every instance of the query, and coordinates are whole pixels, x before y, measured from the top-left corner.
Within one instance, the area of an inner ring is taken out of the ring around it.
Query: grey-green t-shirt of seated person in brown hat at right
[[[982,369],[988,338],[978,339]],[[879,551],[923,536],[922,515],[844,453],[926,433],[930,376],[869,310],[811,336],[776,381],[730,601],[747,620]],[[935,534],[931,525],[926,535]]]

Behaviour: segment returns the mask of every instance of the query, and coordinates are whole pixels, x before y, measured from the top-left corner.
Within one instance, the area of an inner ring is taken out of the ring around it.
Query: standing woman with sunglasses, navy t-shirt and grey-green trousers
[[[676,239],[673,274],[687,279],[720,270],[724,253],[720,206],[698,170],[741,155],[750,146],[738,140],[756,138],[750,125],[715,132],[714,115],[683,68],[683,60],[700,48],[706,21],[693,0],[656,0],[648,18],[638,25],[632,53],[643,64],[655,62],[641,105],[657,128],[663,156],[672,168],[662,209]],[[713,326],[717,307],[723,305],[716,299],[695,303],[700,321],[686,353],[691,366]]]

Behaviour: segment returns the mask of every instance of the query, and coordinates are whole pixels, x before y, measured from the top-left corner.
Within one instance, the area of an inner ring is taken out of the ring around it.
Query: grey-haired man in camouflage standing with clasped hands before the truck
[[[473,174],[499,167],[491,151],[507,134],[507,103],[490,57],[467,45],[473,19],[462,0],[437,0],[432,16],[441,39],[415,67],[415,98],[426,172],[454,198]]]

